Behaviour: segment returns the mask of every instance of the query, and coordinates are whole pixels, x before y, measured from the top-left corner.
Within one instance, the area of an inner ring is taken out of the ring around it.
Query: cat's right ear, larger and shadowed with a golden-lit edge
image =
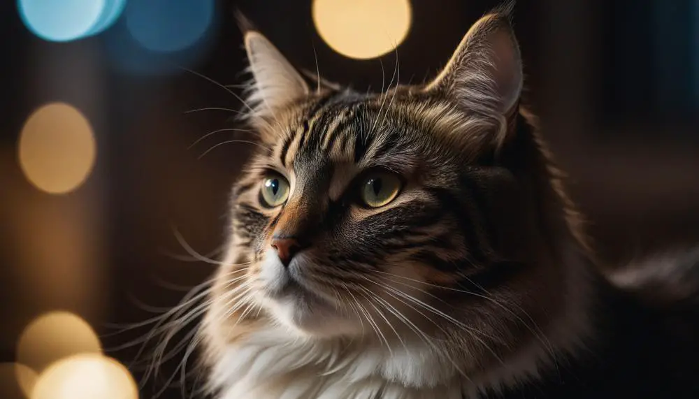
[[[428,91],[449,96],[467,112],[500,120],[512,114],[523,80],[519,45],[510,24],[512,5],[507,3],[473,24]]]

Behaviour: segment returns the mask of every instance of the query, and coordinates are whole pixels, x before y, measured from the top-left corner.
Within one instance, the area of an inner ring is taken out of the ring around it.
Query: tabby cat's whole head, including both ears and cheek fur
[[[434,340],[476,367],[562,317],[570,225],[519,112],[508,15],[482,17],[431,82],[380,94],[309,84],[257,32],[245,46],[261,149],[234,189],[213,340]]]

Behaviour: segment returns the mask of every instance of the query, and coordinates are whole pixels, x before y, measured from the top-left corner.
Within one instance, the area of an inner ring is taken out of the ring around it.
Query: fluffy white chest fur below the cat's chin
[[[217,399],[461,399],[464,387],[439,359],[374,347],[250,340],[225,349],[210,382]],[[416,349],[417,350],[417,349]],[[434,384],[447,378],[453,384]],[[404,382],[413,381],[413,387]],[[420,388],[417,388],[420,386]]]

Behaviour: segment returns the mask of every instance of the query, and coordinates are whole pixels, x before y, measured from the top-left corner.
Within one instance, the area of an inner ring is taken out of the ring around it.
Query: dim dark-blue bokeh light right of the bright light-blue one
[[[143,48],[178,52],[199,42],[214,20],[214,0],[147,0],[129,3],[124,17],[129,34]]]

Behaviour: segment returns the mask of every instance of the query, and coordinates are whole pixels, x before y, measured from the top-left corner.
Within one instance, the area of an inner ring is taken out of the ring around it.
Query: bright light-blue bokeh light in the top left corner
[[[122,13],[126,0],[17,0],[22,22],[48,41],[72,41],[99,34]]]

